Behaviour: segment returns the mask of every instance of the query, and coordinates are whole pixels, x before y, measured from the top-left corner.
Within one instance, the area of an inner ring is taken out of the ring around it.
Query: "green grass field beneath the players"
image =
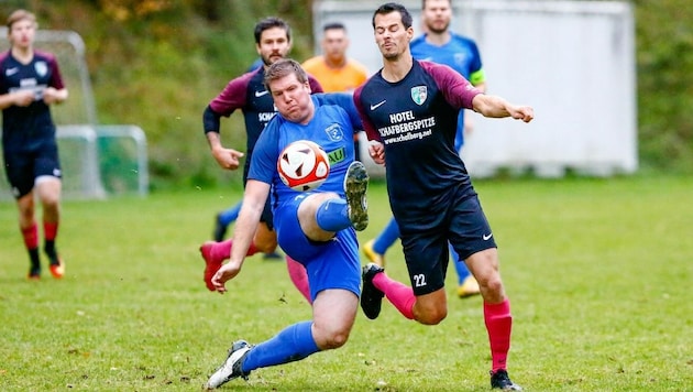
[[[690,178],[475,183],[513,303],[510,375],[528,391],[693,391]],[[370,189],[372,238],[389,218]],[[209,293],[198,246],[238,194],[190,189],[64,203],[67,274],[28,282],[15,207],[0,203],[0,390],[199,390],[234,339],[310,318],[284,263],[250,259]],[[399,247],[388,274],[405,279]],[[359,315],[345,347],[254,371],[226,390],[484,391],[481,298],[454,296],[439,326],[389,304]]]

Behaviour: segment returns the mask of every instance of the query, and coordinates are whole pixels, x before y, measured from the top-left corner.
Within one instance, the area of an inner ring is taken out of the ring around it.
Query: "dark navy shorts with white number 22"
[[[448,271],[448,242],[465,260],[471,254],[496,248],[491,226],[476,195],[453,197],[441,211],[437,227],[427,230],[402,230],[407,270],[416,295],[444,287]]]

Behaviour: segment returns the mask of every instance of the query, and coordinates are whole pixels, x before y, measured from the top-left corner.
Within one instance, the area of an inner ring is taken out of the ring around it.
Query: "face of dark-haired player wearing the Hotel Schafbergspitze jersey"
[[[411,41],[414,35],[414,29],[405,29],[399,12],[377,14],[374,22],[375,43],[381,50],[383,57],[396,59],[409,51],[409,41]]]

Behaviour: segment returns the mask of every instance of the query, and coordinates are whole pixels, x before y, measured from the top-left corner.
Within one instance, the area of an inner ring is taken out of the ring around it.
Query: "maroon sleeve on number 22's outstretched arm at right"
[[[482,94],[464,76],[444,64],[419,62],[421,67],[433,77],[448,104],[455,109],[473,109],[472,100]]]

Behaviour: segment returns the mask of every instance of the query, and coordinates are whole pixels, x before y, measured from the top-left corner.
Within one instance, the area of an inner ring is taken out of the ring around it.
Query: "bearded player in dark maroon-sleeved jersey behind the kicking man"
[[[243,166],[243,182],[248,177],[250,162],[257,138],[265,126],[275,116],[274,102],[270,91],[265,89],[264,76],[267,67],[282,58],[285,58],[292,48],[292,31],[289,25],[278,18],[266,18],[255,25],[255,47],[262,58],[263,66],[245,73],[231,81],[207,106],[204,113],[205,135],[211,148],[211,153],[222,168],[237,170],[244,153],[224,148],[220,138],[220,119],[229,117],[235,110],[241,110],[245,119],[246,156]],[[320,84],[312,77],[309,78],[314,92],[322,91]],[[200,253],[205,259],[205,283],[207,288],[215,291],[211,276],[219,270],[224,259],[231,253],[233,241],[222,242],[207,241],[200,247]],[[272,209],[267,204],[261,217],[257,232],[248,250],[248,255],[257,252],[271,253],[277,247],[277,237],[273,228]],[[289,277],[296,288],[309,300],[306,273],[300,264],[292,258],[286,258]]]

